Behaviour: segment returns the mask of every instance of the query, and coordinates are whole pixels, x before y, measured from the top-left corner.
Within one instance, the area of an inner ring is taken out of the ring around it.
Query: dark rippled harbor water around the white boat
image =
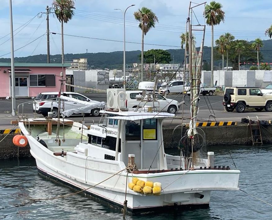
[[[239,187],[272,203],[272,146],[213,146],[215,165],[241,170]],[[168,152],[178,155],[178,150]],[[233,160],[232,160],[232,158]],[[0,219],[123,219],[122,213],[84,194],[65,199],[30,202],[29,198],[49,198],[75,190],[40,176],[33,158],[0,160]],[[126,219],[272,219],[272,207],[242,191],[213,191],[210,207],[127,216]]]

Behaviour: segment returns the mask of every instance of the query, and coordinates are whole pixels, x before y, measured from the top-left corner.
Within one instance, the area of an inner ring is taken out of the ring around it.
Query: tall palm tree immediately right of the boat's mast
[[[209,5],[206,4],[204,11],[206,23],[211,26],[211,86],[213,86],[213,26],[224,22],[225,12],[222,11],[222,7],[219,2],[211,1]]]

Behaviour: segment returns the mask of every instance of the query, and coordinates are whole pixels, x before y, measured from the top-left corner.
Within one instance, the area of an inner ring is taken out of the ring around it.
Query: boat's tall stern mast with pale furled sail
[[[198,103],[199,103],[199,92],[200,92],[200,83],[201,83],[201,71],[202,71],[202,55],[203,55],[203,46],[204,46],[204,36],[205,36],[205,25],[200,25],[198,20],[197,25],[192,25],[192,14],[195,15],[193,12],[193,8],[198,7],[200,5],[206,4],[203,2],[201,4],[192,5],[192,2],[189,4],[188,10],[188,18],[187,23],[189,27],[189,72],[191,77],[191,119],[189,124],[188,130],[188,137],[191,139],[191,160],[192,160],[192,167],[194,167],[194,157],[193,157],[193,149],[194,149],[194,135],[197,134],[196,130],[196,122],[197,122],[197,113],[198,113]],[[191,18],[190,18],[191,13]],[[197,55],[197,50],[195,46],[194,36],[192,34],[192,30],[194,31],[203,31],[202,37],[202,44]],[[187,30],[186,30],[187,33]]]

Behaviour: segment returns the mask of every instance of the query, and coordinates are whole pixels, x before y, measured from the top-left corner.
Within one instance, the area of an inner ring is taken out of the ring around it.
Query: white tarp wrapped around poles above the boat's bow
[[[68,110],[61,112],[62,117],[69,117],[72,114],[80,114],[82,112],[88,112],[89,110],[94,109],[94,108],[103,108],[106,105],[105,102],[98,102],[98,101],[94,101],[94,100],[87,102],[87,101],[81,101],[81,100],[70,98],[70,97],[63,96],[63,95],[61,95],[60,98],[63,100],[66,100],[66,101],[75,102],[75,103],[84,105],[83,107],[80,107],[80,108],[68,109]]]

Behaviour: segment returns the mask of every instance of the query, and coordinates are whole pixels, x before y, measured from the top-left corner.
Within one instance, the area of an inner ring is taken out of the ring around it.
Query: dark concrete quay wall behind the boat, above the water
[[[256,126],[256,125],[253,125]],[[179,140],[183,136],[181,127],[174,131],[175,127],[163,127],[163,142],[165,148],[177,148]],[[183,132],[188,128],[184,127]],[[201,127],[206,135],[206,144],[251,144],[251,131],[247,124],[231,125],[231,126],[208,126]],[[173,134],[174,131],[174,134]],[[272,143],[272,126],[261,127],[263,143]],[[0,144],[0,159],[31,157],[29,146],[18,148],[12,143],[12,138],[15,134],[8,135]],[[0,135],[0,140],[5,135]],[[19,150],[19,151],[18,151]]]

